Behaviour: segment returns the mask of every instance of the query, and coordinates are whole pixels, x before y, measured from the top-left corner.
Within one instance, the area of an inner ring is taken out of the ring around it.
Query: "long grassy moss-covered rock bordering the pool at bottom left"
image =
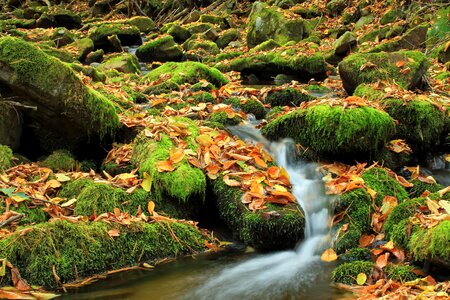
[[[0,257],[20,270],[31,285],[56,288],[113,269],[204,250],[192,225],[176,222],[46,222],[0,240]],[[108,231],[117,230],[118,237]],[[58,275],[60,283],[55,279]],[[9,274],[1,285],[12,285]]]

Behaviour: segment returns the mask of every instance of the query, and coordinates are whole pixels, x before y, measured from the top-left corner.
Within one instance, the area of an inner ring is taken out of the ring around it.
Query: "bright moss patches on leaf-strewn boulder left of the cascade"
[[[187,128],[190,135],[185,138],[190,149],[197,150],[195,138],[199,134],[196,123],[187,118],[174,118],[172,122]],[[206,177],[202,170],[191,166],[184,158],[175,165],[171,172],[158,172],[157,162],[169,158],[169,151],[175,147],[173,141],[162,135],[160,141],[146,137],[143,133],[135,139],[132,162],[139,167],[139,174],[146,172],[153,180],[154,196],[160,199],[169,197],[180,203],[188,200],[204,200],[206,191]]]

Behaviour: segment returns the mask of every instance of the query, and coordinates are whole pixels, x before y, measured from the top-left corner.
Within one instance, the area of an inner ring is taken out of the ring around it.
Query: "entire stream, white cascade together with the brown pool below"
[[[289,173],[292,193],[305,213],[305,240],[296,249],[272,254],[236,253],[200,256],[158,266],[152,274],[113,277],[66,295],[71,299],[335,299],[329,285],[332,264],[320,254],[328,247],[329,197],[317,165],[295,159],[289,140],[271,143],[251,126],[232,128],[233,134],[261,142]],[[130,276],[135,276],[132,278]],[[125,279],[124,279],[125,278]],[[114,288],[111,288],[115,286]]]

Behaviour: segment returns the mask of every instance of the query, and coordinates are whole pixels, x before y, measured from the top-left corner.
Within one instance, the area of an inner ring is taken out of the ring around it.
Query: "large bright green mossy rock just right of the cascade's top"
[[[290,137],[319,154],[364,157],[378,152],[394,128],[387,113],[371,107],[316,105],[269,122],[262,133],[273,140]]]

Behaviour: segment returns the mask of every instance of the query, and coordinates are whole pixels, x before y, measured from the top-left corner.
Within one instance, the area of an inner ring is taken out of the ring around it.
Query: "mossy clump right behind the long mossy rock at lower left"
[[[149,193],[137,189],[128,194],[120,188],[113,188],[108,184],[88,184],[77,197],[74,213],[76,215],[91,216],[112,212],[114,208],[135,214],[138,207],[146,207]]]

